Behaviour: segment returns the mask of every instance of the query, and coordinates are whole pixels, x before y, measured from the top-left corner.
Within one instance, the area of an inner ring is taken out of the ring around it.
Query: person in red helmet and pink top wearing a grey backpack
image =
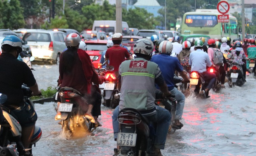
[[[208,55],[209,55],[209,58],[210,58],[210,61],[212,62],[212,65],[219,70],[219,73],[220,73],[220,82],[221,82],[221,87],[224,88],[224,83],[225,83],[225,77],[226,77],[226,71],[224,70],[224,67],[222,65],[217,65],[217,64],[214,64],[213,62],[213,59],[214,59],[214,52],[215,50],[217,50],[216,47],[216,42],[219,42],[219,41],[215,41],[214,39],[209,39],[207,41],[207,44],[209,45],[209,48],[208,48]],[[223,56],[223,59],[224,59],[224,56]],[[217,75],[216,75],[217,76]]]

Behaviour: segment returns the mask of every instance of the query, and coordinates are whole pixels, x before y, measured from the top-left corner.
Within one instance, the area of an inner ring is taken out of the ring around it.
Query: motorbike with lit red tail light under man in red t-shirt
[[[104,87],[103,90],[103,98],[106,107],[111,107],[115,109],[119,105],[120,101],[120,92],[117,89],[117,75],[113,72],[114,67],[107,65],[105,70],[101,71],[104,72],[106,81],[100,85],[100,88]]]

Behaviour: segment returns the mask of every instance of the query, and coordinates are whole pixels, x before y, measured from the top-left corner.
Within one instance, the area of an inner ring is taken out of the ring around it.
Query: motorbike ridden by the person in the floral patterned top
[[[243,68],[240,64],[230,63],[227,69],[228,85],[230,87],[242,86],[245,83]]]

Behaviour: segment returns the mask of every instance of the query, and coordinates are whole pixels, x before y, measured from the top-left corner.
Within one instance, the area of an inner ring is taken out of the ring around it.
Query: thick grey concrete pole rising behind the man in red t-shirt
[[[122,1],[116,0],[116,32],[122,34]],[[129,30],[127,30],[129,31]]]

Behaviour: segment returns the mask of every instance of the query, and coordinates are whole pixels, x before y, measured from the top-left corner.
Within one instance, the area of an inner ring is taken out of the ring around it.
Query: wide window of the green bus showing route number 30
[[[216,15],[187,15],[185,24],[188,27],[214,27],[218,21]]]

